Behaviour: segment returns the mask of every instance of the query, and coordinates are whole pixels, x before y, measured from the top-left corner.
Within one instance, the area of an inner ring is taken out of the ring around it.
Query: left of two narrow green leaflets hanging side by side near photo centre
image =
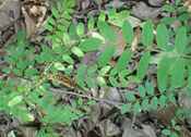
[[[86,68],[87,66],[85,64],[81,64],[77,68],[76,83],[82,88],[85,87]]]

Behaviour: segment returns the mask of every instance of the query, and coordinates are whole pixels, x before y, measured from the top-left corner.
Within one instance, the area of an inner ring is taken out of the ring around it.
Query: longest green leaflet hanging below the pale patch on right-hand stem
[[[168,73],[172,60],[168,57],[164,57],[157,65],[157,85],[160,92],[167,89]]]

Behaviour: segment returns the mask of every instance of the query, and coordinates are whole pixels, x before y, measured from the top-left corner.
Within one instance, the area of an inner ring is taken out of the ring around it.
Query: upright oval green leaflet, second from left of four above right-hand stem
[[[153,34],[153,23],[151,21],[147,21],[143,25],[143,30],[142,30],[142,43],[146,47],[150,47],[153,45],[154,40],[154,34]]]

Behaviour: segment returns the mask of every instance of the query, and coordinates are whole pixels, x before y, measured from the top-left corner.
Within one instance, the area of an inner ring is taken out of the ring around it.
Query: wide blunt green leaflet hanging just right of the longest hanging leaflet
[[[174,65],[170,68],[170,87],[171,88],[179,88],[184,84],[184,60],[183,59],[176,59],[174,61]]]

